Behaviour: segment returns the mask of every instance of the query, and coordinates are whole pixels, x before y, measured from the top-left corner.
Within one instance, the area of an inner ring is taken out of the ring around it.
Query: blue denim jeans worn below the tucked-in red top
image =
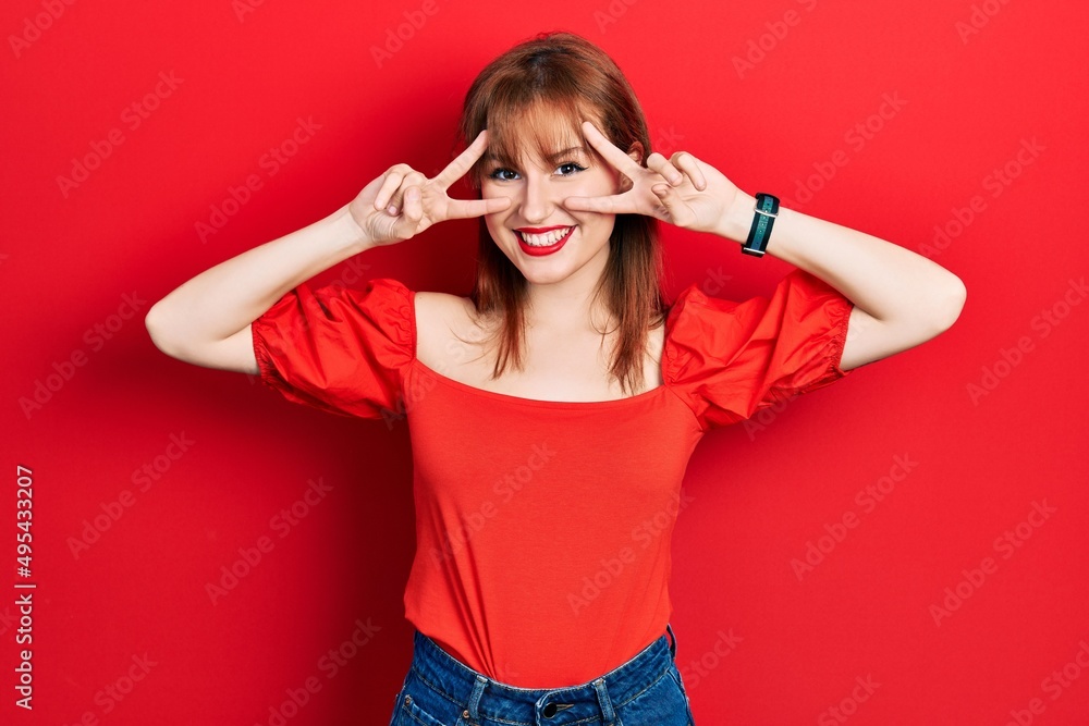
[[[390,726],[693,726],[676,636],[665,629],[672,642],[663,635],[599,678],[548,689],[492,680],[416,630]]]

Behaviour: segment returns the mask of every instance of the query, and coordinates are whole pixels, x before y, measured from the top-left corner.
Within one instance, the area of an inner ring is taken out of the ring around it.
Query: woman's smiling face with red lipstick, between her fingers
[[[554,164],[527,150],[517,168],[493,160],[484,167],[480,196],[511,199],[505,210],[485,217],[488,231],[533,284],[561,282],[576,273],[594,284],[609,259],[615,214],[570,211],[563,200],[617,194],[623,176],[600,156],[591,156],[592,147],[582,136],[573,146]],[[636,152],[632,156],[639,160]]]

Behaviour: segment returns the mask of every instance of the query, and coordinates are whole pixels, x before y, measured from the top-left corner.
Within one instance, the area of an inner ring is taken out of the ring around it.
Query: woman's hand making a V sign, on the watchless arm
[[[408,164],[390,167],[348,205],[352,219],[368,242],[392,245],[449,219],[503,211],[511,204],[507,197],[452,199],[446,195],[450,185],[473,168],[487,147],[485,130],[435,179],[427,179]]]

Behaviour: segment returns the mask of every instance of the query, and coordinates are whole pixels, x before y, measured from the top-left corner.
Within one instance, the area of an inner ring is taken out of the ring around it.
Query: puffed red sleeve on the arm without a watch
[[[253,322],[261,381],[284,398],[331,414],[397,411],[415,354],[413,292],[380,278],[364,290],[302,284]]]

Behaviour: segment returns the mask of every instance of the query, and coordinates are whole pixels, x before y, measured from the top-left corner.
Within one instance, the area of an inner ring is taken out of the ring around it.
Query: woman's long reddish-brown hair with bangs
[[[488,155],[500,163],[516,163],[523,139],[541,159],[564,148],[555,121],[566,122],[583,138],[582,122],[594,121],[616,147],[641,149],[639,163],[650,155],[650,137],[635,91],[608,54],[572,33],[541,33],[489,63],[465,96],[458,124],[460,141],[469,144],[488,130]],[[608,163],[587,145],[595,162]],[[487,157],[467,174],[479,196]],[[591,297],[604,295],[607,308],[619,321],[610,374],[622,391],[644,385],[643,361],[648,331],[664,322],[668,303],[661,290],[662,261],[658,220],[643,214],[617,214],[609,238],[605,271]],[[492,241],[480,218],[477,275],[469,296],[481,318],[495,316],[501,324],[492,378],[512,364],[523,369],[525,309],[528,282]],[[608,331],[600,331],[602,336]]]

